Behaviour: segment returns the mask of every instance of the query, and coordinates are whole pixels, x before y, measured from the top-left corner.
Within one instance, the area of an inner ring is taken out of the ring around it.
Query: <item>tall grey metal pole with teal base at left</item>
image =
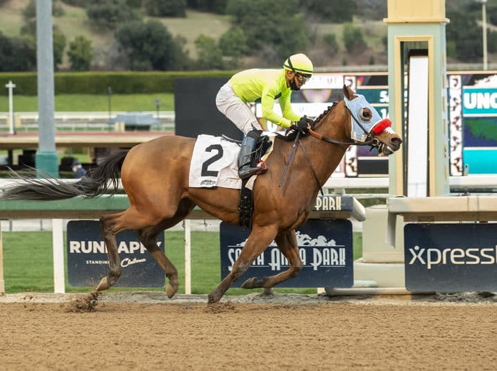
[[[38,83],[38,137],[36,169],[58,177],[56,127],[53,119],[52,1],[36,0],[36,56]]]

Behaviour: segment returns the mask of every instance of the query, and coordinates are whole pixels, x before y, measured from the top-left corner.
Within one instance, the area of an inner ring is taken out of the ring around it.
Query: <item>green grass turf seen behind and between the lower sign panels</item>
[[[362,256],[362,234],[353,234],[354,259]],[[51,232],[3,232],[3,270],[6,293],[53,292],[53,257]],[[65,241],[65,240],[64,240]],[[185,293],[184,234],[171,231],[165,234],[167,256],[178,269],[180,288]],[[90,291],[89,287],[73,287],[67,282],[66,291]],[[219,233],[192,232],[192,293],[210,293],[221,281]],[[164,288],[110,288],[110,291],[146,290]],[[316,288],[276,288],[280,293],[316,293]],[[262,289],[230,288],[228,295],[262,292]]]

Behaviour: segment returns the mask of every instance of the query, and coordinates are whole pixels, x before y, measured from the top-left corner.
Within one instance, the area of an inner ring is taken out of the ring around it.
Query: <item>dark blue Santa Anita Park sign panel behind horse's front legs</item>
[[[246,228],[221,223],[221,277],[233,268],[249,237]],[[309,220],[296,230],[303,270],[296,278],[278,287],[351,287],[353,277],[352,223],[344,219]],[[289,268],[285,256],[273,241],[233,287],[241,286],[251,277],[277,275]]]

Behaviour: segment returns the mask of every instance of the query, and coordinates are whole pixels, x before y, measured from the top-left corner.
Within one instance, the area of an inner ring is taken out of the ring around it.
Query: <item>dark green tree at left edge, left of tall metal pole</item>
[[[0,71],[33,71],[36,49],[33,40],[7,37],[0,31]]]

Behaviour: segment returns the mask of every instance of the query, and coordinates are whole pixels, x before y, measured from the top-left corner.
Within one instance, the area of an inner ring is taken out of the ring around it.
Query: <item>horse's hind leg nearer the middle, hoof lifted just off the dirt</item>
[[[140,241],[142,241],[142,243],[146,247],[146,250],[149,250],[153,259],[157,261],[160,269],[162,269],[168,279],[166,286],[167,297],[173,297],[174,294],[176,294],[176,291],[178,291],[178,270],[176,269],[174,264],[172,264],[171,261],[167,259],[164,252],[160,250],[157,243],[155,242],[155,237],[163,230],[167,230],[167,228],[170,228],[182,221],[190,212],[190,210],[193,209],[194,206],[195,204],[192,201],[183,199],[181,200],[180,205],[178,206],[178,211],[176,212],[174,217],[165,219],[164,221],[160,222],[158,225],[154,225],[153,227],[147,227],[138,231]]]

